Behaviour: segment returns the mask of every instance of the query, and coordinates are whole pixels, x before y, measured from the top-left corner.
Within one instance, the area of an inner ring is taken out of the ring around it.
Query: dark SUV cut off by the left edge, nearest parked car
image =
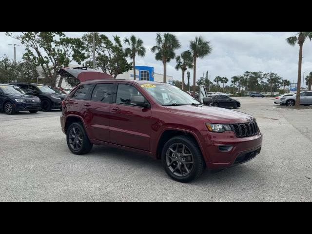
[[[26,95],[19,87],[0,84],[0,110],[8,115],[19,111],[36,113],[41,109],[40,98]]]

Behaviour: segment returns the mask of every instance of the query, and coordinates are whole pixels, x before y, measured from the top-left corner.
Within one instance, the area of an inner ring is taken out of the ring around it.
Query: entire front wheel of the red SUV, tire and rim
[[[166,173],[179,182],[199,177],[205,167],[197,143],[188,136],[171,138],[162,149],[161,160]]]

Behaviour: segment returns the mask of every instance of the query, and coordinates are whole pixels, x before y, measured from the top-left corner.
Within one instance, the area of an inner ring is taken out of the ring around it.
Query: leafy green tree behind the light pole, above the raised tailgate
[[[86,48],[88,60],[86,66],[93,67],[93,33],[83,35],[82,41]],[[124,52],[120,37],[114,36],[112,42],[106,35],[97,35],[96,43],[96,68],[100,68],[104,73],[110,74],[113,78],[117,75],[129,71],[132,63],[128,63],[127,55]]]

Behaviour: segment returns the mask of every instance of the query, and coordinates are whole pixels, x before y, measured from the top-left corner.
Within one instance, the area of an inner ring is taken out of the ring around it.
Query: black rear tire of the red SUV
[[[72,135],[72,133],[75,133],[75,129],[76,129],[76,133],[77,132],[80,133],[80,134],[78,133],[76,138],[73,137]],[[80,141],[80,138],[81,138],[81,141]],[[87,154],[90,152],[93,146],[93,144],[89,140],[89,137],[87,136],[86,131],[84,130],[82,123],[80,122],[74,122],[69,126],[69,128],[67,129],[67,133],[66,133],[66,141],[67,141],[68,148],[75,155]],[[78,145],[78,141],[80,141],[79,145]],[[75,148],[75,143],[77,146],[76,148]]]

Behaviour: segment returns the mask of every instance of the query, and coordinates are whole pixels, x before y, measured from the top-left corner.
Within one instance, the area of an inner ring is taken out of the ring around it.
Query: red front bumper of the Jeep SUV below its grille
[[[262,134],[236,138],[234,132],[212,133],[202,131],[203,155],[209,169],[221,169],[247,162],[261,151]],[[231,146],[230,151],[219,147]]]

